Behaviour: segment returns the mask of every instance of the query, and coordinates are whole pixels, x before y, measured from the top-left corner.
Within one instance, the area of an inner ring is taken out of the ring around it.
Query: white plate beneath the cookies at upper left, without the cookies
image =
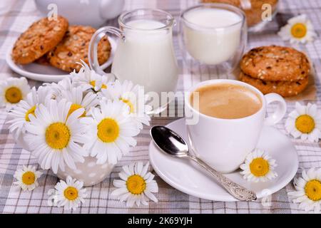
[[[101,65],[101,68],[103,69],[111,66],[111,63],[113,63],[113,56],[115,56],[115,51],[117,48],[117,42],[114,38],[108,37],[108,40],[111,43],[111,56],[108,58],[108,61],[106,61],[106,63],[103,63],[103,65]],[[8,63],[12,71],[18,73],[21,76],[25,76],[26,78],[30,78],[36,81],[56,83],[69,75],[66,74],[66,71],[61,71],[60,69],[54,68],[53,66],[44,66],[38,63],[30,63],[27,65],[16,64],[11,58],[11,51],[12,48],[9,48],[9,51],[6,53],[6,63]]]

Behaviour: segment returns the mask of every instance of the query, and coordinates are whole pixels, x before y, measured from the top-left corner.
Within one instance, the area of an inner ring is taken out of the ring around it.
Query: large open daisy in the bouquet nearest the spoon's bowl
[[[89,139],[84,147],[91,152],[91,157],[97,158],[97,164],[106,160],[116,164],[130,146],[136,145],[133,136],[139,133],[128,107],[118,100],[101,100],[100,108],[91,108],[90,114],[92,118],[81,118],[82,123],[89,125]]]

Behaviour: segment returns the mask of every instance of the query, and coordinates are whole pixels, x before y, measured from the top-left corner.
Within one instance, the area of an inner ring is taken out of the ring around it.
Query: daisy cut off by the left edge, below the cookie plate
[[[30,87],[26,78],[8,78],[0,81],[0,108],[11,110],[20,100],[26,99]]]

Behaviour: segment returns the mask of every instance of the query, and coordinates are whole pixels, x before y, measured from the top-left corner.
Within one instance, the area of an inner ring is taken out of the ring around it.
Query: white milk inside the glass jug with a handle
[[[127,79],[145,91],[175,91],[178,64],[173,50],[172,32],[153,20],[126,23],[125,41],[120,40],[111,72],[121,81]]]

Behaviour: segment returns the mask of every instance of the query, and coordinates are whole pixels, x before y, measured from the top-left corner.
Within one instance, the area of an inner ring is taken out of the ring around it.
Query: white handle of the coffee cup
[[[282,96],[278,95],[277,93],[269,93],[265,95],[265,100],[266,105],[269,105],[272,102],[278,103],[275,112],[271,115],[268,115],[264,120],[265,125],[275,125],[285,116],[285,113],[287,112],[287,103],[285,103],[285,100],[282,98]]]

